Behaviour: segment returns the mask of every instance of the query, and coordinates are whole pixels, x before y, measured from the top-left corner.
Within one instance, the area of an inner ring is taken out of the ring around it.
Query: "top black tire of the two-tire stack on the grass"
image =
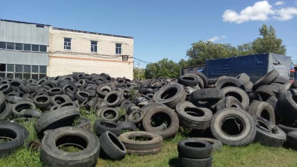
[[[177,151],[183,157],[192,159],[205,159],[212,155],[212,145],[198,139],[184,139],[177,143]]]

